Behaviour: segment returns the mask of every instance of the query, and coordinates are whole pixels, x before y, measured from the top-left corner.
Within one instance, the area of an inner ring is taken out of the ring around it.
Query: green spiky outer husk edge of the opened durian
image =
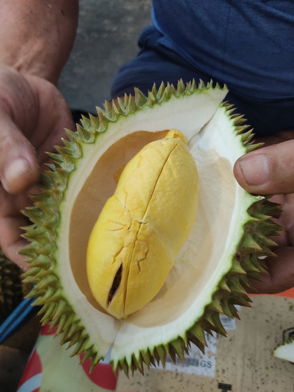
[[[27,261],[31,263],[31,269],[24,274],[24,281],[36,283],[29,297],[38,297],[34,304],[43,305],[40,311],[40,314],[43,314],[43,325],[49,322],[51,328],[58,325],[56,335],[62,334],[61,343],[69,342],[69,347],[76,344],[71,355],[85,351],[82,361],[91,358],[91,369],[101,358],[98,358],[93,345],[88,343],[89,336],[70,303],[63,296],[60,280],[53,271],[54,238],[59,220],[58,203],[62,200],[69,175],[82,155],[80,145],[94,143],[96,136],[107,129],[108,123],[116,121],[120,116],[140,111],[145,105],[149,107],[158,105],[169,100],[171,96],[189,95],[196,89],[208,88],[213,88],[212,82],[207,86],[200,82],[197,87],[194,80],[187,85],[180,80],[177,89],[169,83],[166,87],[162,83],[158,90],[154,85],[148,97],[135,89],[135,99],[125,94],[124,101],[118,98],[117,105],[114,101],[112,104],[105,102],[105,110],[97,108],[98,118],[90,115],[90,119],[87,119],[82,116],[83,127],[77,125],[77,132],[67,130],[70,141],[63,140],[64,147],[56,147],[59,154],[48,154],[53,164],[47,165],[50,171],[45,172],[40,181],[42,193],[32,196],[34,206],[24,211],[24,214],[34,222],[33,225],[23,228],[26,232],[24,238],[31,241],[31,244],[21,251],[22,254],[28,256]],[[216,84],[214,88],[220,89],[220,86]],[[235,133],[242,135],[246,152],[260,147],[260,144],[251,142],[252,130],[245,132],[248,126],[243,125],[245,122],[243,116],[233,114],[232,105],[223,103],[223,106],[228,116],[233,119]],[[152,350],[147,348],[140,352],[138,358],[133,355],[131,363],[123,359],[114,364],[114,367],[120,367],[126,374],[129,368],[132,372],[138,369],[143,373],[143,363],[149,367],[150,364],[154,365],[156,360],[158,363],[161,361],[164,366],[167,355],[170,355],[174,361],[176,356],[183,360],[184,352],[188,352],[191,343],[204,351],[206,345],[204,331],[210,334],[215,331],[225,335],[219,314],[224,313],[231,318],[238,318],[234,305],[250,306],[251,300],[246,294],[246,289],[250,287],[249,279],[260,280],[260,273],[266,272],[265,265],[258,257],[274,255],[269,246],[275,243],[267,236],[275,235],[276,231],[281,229],[270,220],[272,215],[279,212],[279,206],[271,203],[267,198],[253,203],[248,212],[251,218],[244,226],[244,235],[232,260],[232,268],[221,279],[212,302],[205,308],[203,316],[187,330],[184,337],[178,336],[177,339]]]

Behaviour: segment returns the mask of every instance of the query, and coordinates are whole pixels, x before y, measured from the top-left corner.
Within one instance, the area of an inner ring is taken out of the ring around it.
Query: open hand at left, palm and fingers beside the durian
[[[31,205],[28,194],[44,163],[44,151],[74,129],[71,111],[56,87],[42,78],[21,75],[0,66],[0,247],[5,255],[26,269],[16,252],[26,245],[19,227],[27,220],[20,210]]]

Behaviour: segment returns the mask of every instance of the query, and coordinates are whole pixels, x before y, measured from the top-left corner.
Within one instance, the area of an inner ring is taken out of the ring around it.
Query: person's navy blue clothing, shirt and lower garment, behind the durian
[[[133,93],[134,87],[146,94],[154,82],[212,78],[228,85],[226,99],[245,114],[257,136],[294,129],[294,1],[230,3],[154,0],[153,25],[139,37],[138,56],[118,72],[112,96]],[[237,10],[239,24],[236,15],[231,20]],[[273,34],[267,29],[273,28],[272,19],[278,24]]]

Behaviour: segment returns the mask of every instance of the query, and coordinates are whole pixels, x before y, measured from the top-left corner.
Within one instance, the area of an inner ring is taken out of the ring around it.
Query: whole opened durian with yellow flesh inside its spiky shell
[[[220,313],[234,318],[234,305],[249,306],[248,279],[265,272],[259,257],[272,254],[267,236],[279,230],[270,220],[278,206],[247,193],[234,178],[236,160],[258,145],[242,116],[222,103],[226,94],[226,87],[201,82],[197,88],[194,81],[180,81],[177,89],[154,85],[148,97],[135,89],[134,99],[105,102],[99,118],[83,118],[83,127],[67,132],[70,141],[56,147],[59,154],[49,154],[54,164],[42,177],[42,193],[24,211],[34,222],[24,228],[31,241],[22,250],[31,263],[24,281],[36,283],[29,296],[43,305],[43,324],[58,325],[61,343],[74,346],[72,355],[85,351],[91,368],[110,347],[114,368],[127,374],[143,372],[143,363],[149,367],[155,359],[164,366],[167,355],[183,359],[190,343],[204,350],[204,331],[225,335]],[[185,159],[180,154],[170,172],[158,176],[167,155],[158,159],[154,145],[168,140],[178,140]],[[151,152],[149,168],[147,159],[129,191],[128,179],[136,177],[130,168],[142,149]],[[162,183],[152,192],[156,176]],[[127,208],[117,202],[125,184]],[[153,194],[152,204],[146,198]],[[143,233],[131,264],[147,205],[155,234]],[[135,236],[125,240],[122,227],[132,220]],[[129,253],[116,258],[126,244]]]

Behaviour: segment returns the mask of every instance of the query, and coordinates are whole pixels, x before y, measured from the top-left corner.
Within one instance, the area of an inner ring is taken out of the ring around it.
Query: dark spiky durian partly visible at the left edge
[[[29,290],[22,284],[22,270],[8,260],[0,248],[0,324],[11,314]]]

